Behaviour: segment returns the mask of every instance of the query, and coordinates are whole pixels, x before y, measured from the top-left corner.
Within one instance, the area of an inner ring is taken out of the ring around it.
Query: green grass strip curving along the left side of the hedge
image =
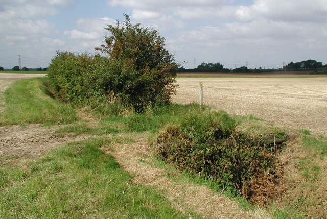
[[[45,78],[16,81],[4,92],[5,109],[0,125],[69,124],[76,120],[75,109],[46,95]]]

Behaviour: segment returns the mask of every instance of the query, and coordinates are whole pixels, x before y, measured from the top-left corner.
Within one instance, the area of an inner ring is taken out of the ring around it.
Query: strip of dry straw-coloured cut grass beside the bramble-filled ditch
[[[154,163],[153,150],[146,146],[145,140],[142,137],[136,139],[133,144],[112,145],[113,152],[108,149],[106,152],[133,176],[135,183],[154,187],[179,211],[191,210],[204,218],[270,218],[263,210],[243,210],[237,202],[205,186],[172,181],[167,177],[168,171],[151,165]]]

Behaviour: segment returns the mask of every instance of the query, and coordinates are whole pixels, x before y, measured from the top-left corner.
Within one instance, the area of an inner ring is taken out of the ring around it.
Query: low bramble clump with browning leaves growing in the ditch
[[[219,187],[232,187],[252,202],[265,203],[282,175],[276,155],[286,135],[271,128],[255,136],[238,125],[224,111],[186,115],[159,134],[158,154],[181,170],[205,174]]]

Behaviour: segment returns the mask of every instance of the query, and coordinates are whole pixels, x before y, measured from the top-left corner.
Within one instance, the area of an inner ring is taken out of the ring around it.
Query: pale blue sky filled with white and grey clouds
[[[153,27],[185,68],[327,64],[327,0],[0,0],[0,66],[48,67],[56,50],[91,52],[115,20]]]

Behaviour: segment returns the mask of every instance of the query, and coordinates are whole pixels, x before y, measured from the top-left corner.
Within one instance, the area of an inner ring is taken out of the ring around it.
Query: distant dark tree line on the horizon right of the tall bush
[[[283,68],[279,68],[279,69],[289,69],[289,70],[319,70],[319,69],[326,69],[327,68],[327,64],[323,65],[322,62],[317,62],[316,60],[313,59],[309,59],[306,61],[301,61],[301,62],[290,62],[289,64],[287,64],[286,66],[284,66]],[[273,70],[278,70],[278,69],[262,69],[261,67],[259,67],[259,69],[254,68],[247,68],[246,66],[242,66],[239,68],[234,68],[234,69],[229,69],[229,68],[224,68],[224,65],[222,65],[221,63],[217,62],[217,63],[205,63],[202,62],[200,65],[198,65],[198,67],[196,68],[189,68],[189,69],[185,69],[184,67],[180,67],[178,68],[179,73],[186,73],[186,72],[216,72],[216,73],[259,73],[262,71],[273,71]]]

